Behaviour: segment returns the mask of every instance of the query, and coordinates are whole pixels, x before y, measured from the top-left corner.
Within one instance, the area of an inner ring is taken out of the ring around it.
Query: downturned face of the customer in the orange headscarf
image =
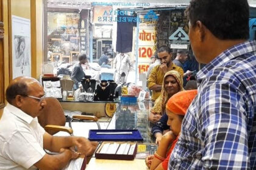
[[[168,109],[166,109],[166,114],[168,115],[167,125],[170,126],[171,131],[174,132],[175,135],[179,135],[182,118],[179,115],[170,112]]]

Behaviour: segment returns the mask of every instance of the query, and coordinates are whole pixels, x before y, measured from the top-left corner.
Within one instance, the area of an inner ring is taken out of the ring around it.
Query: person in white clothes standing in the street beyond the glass
[[[121,75],[125,76],[124,83],[126,83],[129,70],[131,69],[129,55],[118,53],[114,59],[113,68],[116,69],[116,84],[120,83]]]

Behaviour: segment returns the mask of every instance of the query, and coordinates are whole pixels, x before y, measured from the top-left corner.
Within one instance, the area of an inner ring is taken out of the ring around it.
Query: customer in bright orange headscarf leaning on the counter
[[[179,138],[182,120],[187,112],[188,106],[190,106],[190,103],[194,100],[196,95],[197,90],[187,90],[179,92],[169,98],[168,103],[166,104],[166,115],[168,115],[167,124],[170,126],[171,131],[168,131],[163,135],[155,154],[149,155],[146,158],[146,165],[151,170],[168,169],[169,157]],[[171,148],[168,151],[169,146],[171,146]]]

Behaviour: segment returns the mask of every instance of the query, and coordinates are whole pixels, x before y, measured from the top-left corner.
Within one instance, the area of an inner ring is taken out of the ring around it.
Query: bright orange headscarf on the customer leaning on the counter
[[[177,115],[185,115],[190,103],[197,95],[197,90],[185,90],[172,95],[169,98],[166,109]]]

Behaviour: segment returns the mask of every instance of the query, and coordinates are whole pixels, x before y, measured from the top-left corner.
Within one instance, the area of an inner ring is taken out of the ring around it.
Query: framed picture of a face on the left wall
[[[13,77],[31,76],[30,19],[12,15]]]

